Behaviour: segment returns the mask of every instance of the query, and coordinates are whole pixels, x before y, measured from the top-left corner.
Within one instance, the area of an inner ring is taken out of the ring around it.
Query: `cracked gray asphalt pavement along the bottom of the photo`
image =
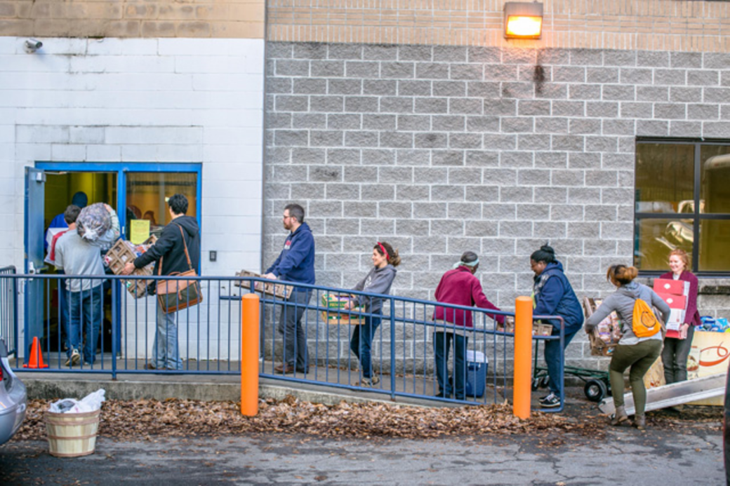
[[[43,441],[0,447],[0,485],[724,485],[718,423],[611,428],[604,439],[472,436],[321,439],[189,437],[114,441],[53,458]]]

